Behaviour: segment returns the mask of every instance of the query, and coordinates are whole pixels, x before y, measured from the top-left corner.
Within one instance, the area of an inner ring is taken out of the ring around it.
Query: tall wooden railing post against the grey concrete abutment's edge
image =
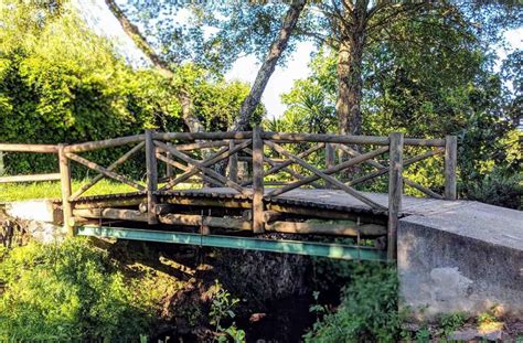
[[[399,225],[399,212],[402,211],[403,194],[403,133],[393,132],[388,135],[388,233],[387,233],[387,258],[396,259],[397,228]]]

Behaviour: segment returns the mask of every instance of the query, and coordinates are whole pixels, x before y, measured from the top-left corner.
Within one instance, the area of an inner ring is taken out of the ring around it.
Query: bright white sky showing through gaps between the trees
[[[117,42],[118,50],[125,55],[127,61],[135,66],[147,63],[146,56],[136,49],[120,26],[118,20],[107,9],[104,0],[74,0],[74,6],[81,10],[87,23],[98,33],[108,36]],[[509,51],[523,47],[523,28],[511,30],[505,33],[509,42]],[[268,118],[279,117],[286,110],[281,104],[281,94],[288,93],[296,79],[309,75],[308,63],[314,46],[310,42],[299,43],[285,67],[277,66],[265,89],[262,101],[267,108]],[[508,51],[498,47],[498,55],[504,58]],[[254,56],[241,57],[233,65],[232,69],[225,74],[227,81],[239,79],[253,84],[259,68],[259,63]]]

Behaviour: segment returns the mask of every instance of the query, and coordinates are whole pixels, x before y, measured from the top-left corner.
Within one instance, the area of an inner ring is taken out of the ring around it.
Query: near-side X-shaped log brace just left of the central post
[[[231,153],[234,153],[234,151],[232,150],[228,150],[227,148],[227,151],[225,151],[224,153],[222,153],[221,156],[216,157],[215,159],[211,159],[211,160],[207,160],[207,162],[199,162],[190,157],[188,157],[186,154],[178,151],[174,147],[168,147],[166,143],[162,143],[162,142],[159,142],[159,141],[154,141],[154,144],[161,149],[163,149],[164,151],[169,151],[172,156],[181,159],[182,161],[189,163],[189,164],[192,164],[192,168],[191,168],[191,172],[194,172],[194,173],[198,173],[199,171],[202,172],[202,173],[205,173],[207,175],[210,175],[211,178],[213,179],[216,179],[217,181],[222,182],[223,184],[230,186],[230,187],[233,187],[235,189],[236,191],[241,192],[241,193],[245,193],[245,190],[239,185],[237,184],[236,182],[233,182],[231,180],[228,180],[227,178],[218,174],[217,172],[215,172],[214,170],[210,169],[210,168],[206,168],[205,165],[206,164],[214,164],[216,163],[217,161],[221,161],[223,159],[226,159],[231,156]],[[242,144],[238,144],[235,147],[235,149],[243,149],[241,148]],[[205,164],[204,164],[205,163]],[[186,172],[184,173],[184,175],[188,175],[189,173],[191,172]],[[191,175],[189,175],[190,178]],[[179,183],[181,182],[180,179],[182,179],[182,176],[179,176],[175,180],[173,180],[172,182],[170,182],[169,184],[175,184],[175,183]],[[186,180],[186,179],[185,179]]]

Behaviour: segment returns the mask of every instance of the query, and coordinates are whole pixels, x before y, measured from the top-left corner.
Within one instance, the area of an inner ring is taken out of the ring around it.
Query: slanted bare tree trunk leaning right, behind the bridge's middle
[[[242,103],[239,116],[233,124],[233,130],[243,131],[248,128],[250,118],[253,117],[253,114],[256,107],[258,106],[259,100],[262,99],[262,95],[264,94],[265,87],[267,86],[267,83],[269,82],[269,78],[275,71],[278,60],[281,57],[281,54],[287,47],[289,37],[296,28],[296,24],[298,22],[301,11],[305,8],[305,0],[295,0],[291,2],[287,14],[285,15],[279,34],[276,40],[270,44],[269,52],[265,57],[265,61],[262,64],[258,74],[256,75],[256,79],[253,84],[253,87],[250,87],[248,96]]]

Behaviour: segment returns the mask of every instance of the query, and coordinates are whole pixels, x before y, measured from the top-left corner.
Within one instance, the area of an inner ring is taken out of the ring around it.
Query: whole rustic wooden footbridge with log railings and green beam
[[[85,156],[125,146],[129,150],[108,167]],[[0,143],[2,151],[57,154],[60,172],[1,176],[0,183],[60,180],[62,200],[55,204],[71,235],[394,260],[401,217],[456,200],[453,136],[278,133],[258,127],[245,132],[146,130],[77,144]],[[403,176],[407,167],[438,156],[444,194]],[[117,172],[130,160],[143,167],[142,180]],[[72,190],[72,162],[97,175]],[[388,176],[387,182],[380,176]],[[85,196],[104,178],[136,191]],[[387,193],[354,187],[380,179]],[[404,184],[426,197],[404,196]],[[328,236],[353,243],[324,243]]]

